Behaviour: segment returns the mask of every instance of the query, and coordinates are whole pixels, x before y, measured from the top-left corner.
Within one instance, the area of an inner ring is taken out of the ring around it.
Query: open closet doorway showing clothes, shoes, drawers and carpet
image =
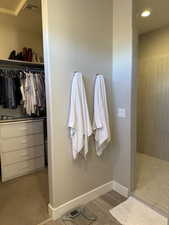
[[[48,219],[41,0],[0,2],[0,225]]]

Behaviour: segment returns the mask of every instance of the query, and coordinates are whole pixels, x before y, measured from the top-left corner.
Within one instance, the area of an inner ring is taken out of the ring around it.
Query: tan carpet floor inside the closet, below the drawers
[[[47,169],[0,183],[0,225],[36,225],[48,216]]]

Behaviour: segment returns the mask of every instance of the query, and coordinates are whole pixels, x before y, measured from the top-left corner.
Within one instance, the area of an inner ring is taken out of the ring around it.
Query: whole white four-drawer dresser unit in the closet
[[[0,124],[2,182],[45,167],[43,120]]]

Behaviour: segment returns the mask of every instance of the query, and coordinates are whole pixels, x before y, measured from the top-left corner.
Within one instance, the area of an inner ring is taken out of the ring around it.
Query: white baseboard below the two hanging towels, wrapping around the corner
[[[89,191],[69,202],[66,202],[65,204],[63,204],[57,208],[53,208],[49,204],[48,205],[49,214],[53,220],[57,220],[58,218],[62,217],[69,210],[76,208],[80,205],[85,205],[88,202],[98,198],[101,195],[106,194],[107,192],[109,192],[111,190],[114,190],[125,197],[128,196],[128,189],[126,187],[118,184],[115,181],[111,181],[111,182],[106,183],[98,188],[95,188],[92,191]]]

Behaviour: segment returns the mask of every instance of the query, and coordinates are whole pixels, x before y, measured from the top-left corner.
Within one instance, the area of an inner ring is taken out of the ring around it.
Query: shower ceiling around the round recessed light
[[[135,0],[139,33],[146,33],[169,25],[169,0]],[[140,13],[150,8],[152,15],[141,18]]]

